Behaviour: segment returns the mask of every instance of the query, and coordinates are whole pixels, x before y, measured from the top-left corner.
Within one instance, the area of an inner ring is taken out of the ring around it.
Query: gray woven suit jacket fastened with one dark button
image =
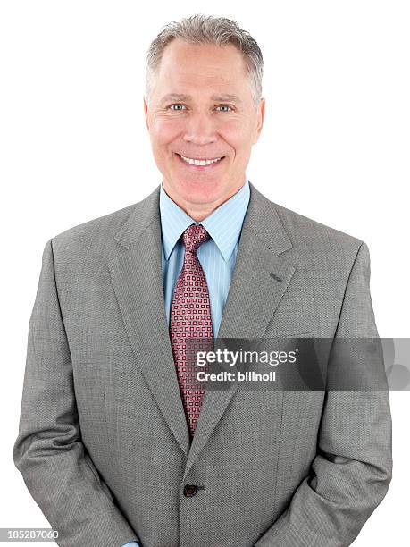
[[[205,393],[190,444],[159,188],[46,243],[13,450],[29,492],[63,547],[349,545],[389,487],[389,392],[236,383]],[[378,337],[365,243],[250,188],[219,337]]]

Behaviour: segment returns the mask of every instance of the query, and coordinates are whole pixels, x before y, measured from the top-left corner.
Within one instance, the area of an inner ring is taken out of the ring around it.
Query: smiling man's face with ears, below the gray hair
[[[184,204],[220,205],[246,179],[251,147],[264,122],[243,57],[235,46],[173,40],[163,51],[146,105],[155,163],[163,187]],[[192,165],[186,158],[214,160]]]

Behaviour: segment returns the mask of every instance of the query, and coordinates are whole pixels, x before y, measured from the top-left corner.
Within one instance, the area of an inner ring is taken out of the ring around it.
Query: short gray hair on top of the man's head
[[[216,46],[236,46],[243,55],[247,73],[253,88],[255,107],[262,94],[264,58],[254,38],[247,30],[240,29],[238,23],[225,17],[202,15],[200,13],[172,21],[165,25],[151,42],[146,55],[146,102],[149,103],[163,50],[173,39],[180,38],[188,44],[214,44]]]

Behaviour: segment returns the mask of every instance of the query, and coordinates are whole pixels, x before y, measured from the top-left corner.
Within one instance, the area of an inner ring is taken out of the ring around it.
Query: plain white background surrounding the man
[[[161,182],[142,96],[146,49],[168,21],[223,15],[258,41],[266,118],[248,179],[272,201],[364,240],[379,333],[410,335],[409,4],[226,0],[221,8],[0,4],[0,527],[49,526],[12,458],[41,254],[61,231],[136,203]],[[356,547],[409,544],[409,393],[390,401],[393,480]]]

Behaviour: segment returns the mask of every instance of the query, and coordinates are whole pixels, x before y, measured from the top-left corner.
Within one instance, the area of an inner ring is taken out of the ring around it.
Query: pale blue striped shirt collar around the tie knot
[[[211,215],[197,223],[168,196],[161,184],[160,214],[165,258],[169,259],[182,233],[194,223],[204,226],[221,251],[223,259],[228,262],[242,230],[249,197],[249,181],[245,181],[241,189],[217,207]]]

